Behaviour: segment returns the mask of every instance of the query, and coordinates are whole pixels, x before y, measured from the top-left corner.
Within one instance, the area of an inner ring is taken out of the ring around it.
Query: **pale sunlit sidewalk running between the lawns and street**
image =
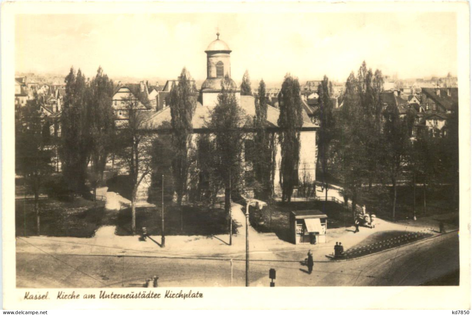
[[[337,192],[336,190],[329,190]],[[97,189],[97,196],[106,197],[106,209],[118,211],[121,207],[129,206],[129,200],[115,192],[109,192],[107,187]],[[148,204],[149,205],[149,204]],[[245,258],[245,207],[232,203],[232,218],[241,226],[238,234],[233,235],[233,244],[229,243],[229,235],[169,235],[166,236],[166,246],[162,248],[160,235],[152,235],[146,241],[140,241],[139,235],[118,236],[115,226],[101,226],[92,238],[71,237],[18,237],[17,252],[39,253],[44,250],[55,254],[77,255],[129,255],[152,257],[200,257],[220,259]],[[441,219],[445,217],[441,216]],[[359,233],[354,233],[354,227],[329,229],[326,243],[323,244],[292,244],[281,240],[275,233],[259,233],[249,226],[250,259],[266,260],[295,260],[303,261],[309,249],[313,252],[315,261],[329,261],[326,255],[333,253],[336,242],[342,242],[344,249],[355,247],[374,233],[384,231],[418,232],[425,228],[438,230],[438,218],[427,217],[417,221],[405,220],[391,223],[377,218],[375,229],[361,227]]]

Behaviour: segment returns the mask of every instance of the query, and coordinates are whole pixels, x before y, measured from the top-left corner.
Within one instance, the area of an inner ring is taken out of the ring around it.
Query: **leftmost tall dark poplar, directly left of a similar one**
[[[90,157],[89,124],[85,76],[73,67],[66,76],[66,95],[61,114],[61,146],[59,154],[62,172],[69,189],[85,194],[87,165]]]

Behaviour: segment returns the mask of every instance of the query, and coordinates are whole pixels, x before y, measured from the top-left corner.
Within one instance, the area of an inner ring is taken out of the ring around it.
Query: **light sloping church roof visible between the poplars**
[[[242,95],[239,106],[244,109],[244,112],[247,116],[253,117],[255,116],[255,106],[254,106],[254,98],[252,96]],[[269,127],[278,127],[277,120],[279,116],[279,110],[277,108],[273,108],[270,105],[267,106],[267,123]],[[211,119],[211,110],[214,106],[202,106],[201,103],[197,102],[197,106],[195,108],[194,116],[192,118],[192,125],[194,129],[205,129],[206,125],[210,122]],[[170,107],[166,107],[161,109],[158,112],[143,112],[141,115],[147,116],[144,118],[144,125],[146,129],[157,129],[160,125],[164,122],[169,122],[171,120],[170,116]],[[306,114],[303,116],[303,128],[316,128],[318,127],[315,124],[312,124],[308,116]]]

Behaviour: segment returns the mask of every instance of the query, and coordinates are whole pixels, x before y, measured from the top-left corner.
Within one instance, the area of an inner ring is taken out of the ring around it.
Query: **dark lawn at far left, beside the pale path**
[[[73,202],[55,199],[39,200],[41,235],[93,237],[101,225],[104,202],[78,198]],[[37,235],[33,200],[16,200],[15,226],[17,236]]]

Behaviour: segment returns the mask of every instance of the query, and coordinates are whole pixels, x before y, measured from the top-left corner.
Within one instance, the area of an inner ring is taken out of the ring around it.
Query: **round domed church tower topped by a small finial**
[[[216,33],[216,36],[216,40],[212,41],[205,50],[207,54],[207,78],[203,82],[201,90],[203,106],[215,106],[218,102],[218,94],[221,92],[221,82],[226,75],[231,78],[229,58],[231,50],[226,42],[219,39],[219,33]],[[232,79],[231,86],[239,102],[241,91]]]

